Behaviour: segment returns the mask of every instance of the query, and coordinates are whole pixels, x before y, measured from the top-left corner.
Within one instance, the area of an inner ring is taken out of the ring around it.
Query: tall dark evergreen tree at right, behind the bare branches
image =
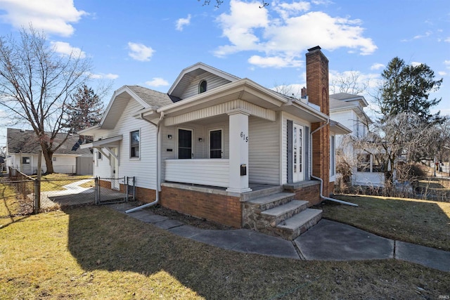
[[[385,122],[389,117],[401,112],[413,112],[426,123],[440,123],[443,118],[430,113],[430,108],[441,99],[430,99],[430,92],[437,91],[442,79],[435,80],[435,72],[428,65],[406,65],[404,60],[393,58],[383,71],[379,105]]]

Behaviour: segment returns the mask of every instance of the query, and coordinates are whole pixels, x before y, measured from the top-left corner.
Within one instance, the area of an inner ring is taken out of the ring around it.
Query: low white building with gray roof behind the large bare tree
[[[67,133],[58,133],[55,143],[59,145]],[[79,148],[79,135],[72,134],[63,145],[53,153],[53,170],[60,174],[75,174],[77,172],[77,157],[91,155],[89,149]],[[41,145],[32,130],[6,130],[6,167],[13,167],[24,174],[37,174],[37,162]],[[41,170],[46,172],[44,156],[41,160]]]

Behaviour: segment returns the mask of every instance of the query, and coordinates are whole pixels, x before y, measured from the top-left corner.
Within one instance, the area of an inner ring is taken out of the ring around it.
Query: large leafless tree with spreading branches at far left
[[[12,35],[0,37],[0,106],[15,124],[34,130],[48,173],[53,173],[53,153],[63,144],[53,141],[64,132],[70,95],[91,69],[81,54],[59,55],[31,25],[20,31],[18,41]]]

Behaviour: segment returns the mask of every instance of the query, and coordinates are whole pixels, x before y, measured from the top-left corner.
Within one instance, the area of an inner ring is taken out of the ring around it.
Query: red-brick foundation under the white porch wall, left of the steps
[[[182,214],[241,227],[240,197],[162,186],[160,204]]]

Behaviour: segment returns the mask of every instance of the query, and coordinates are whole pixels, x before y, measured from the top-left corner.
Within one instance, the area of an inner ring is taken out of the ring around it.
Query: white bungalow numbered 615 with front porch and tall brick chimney
[[[142,202],[293,239],[321,218],[308,207],[333,192],[330,136],[349,133],[330,122],[319,46],[307,53],[307,85],[299,100],[196,63],[167,93],[115,91],[101,123],[79,132],[94,136],[82,148],[94,148],[103,186],[136,176]]]

